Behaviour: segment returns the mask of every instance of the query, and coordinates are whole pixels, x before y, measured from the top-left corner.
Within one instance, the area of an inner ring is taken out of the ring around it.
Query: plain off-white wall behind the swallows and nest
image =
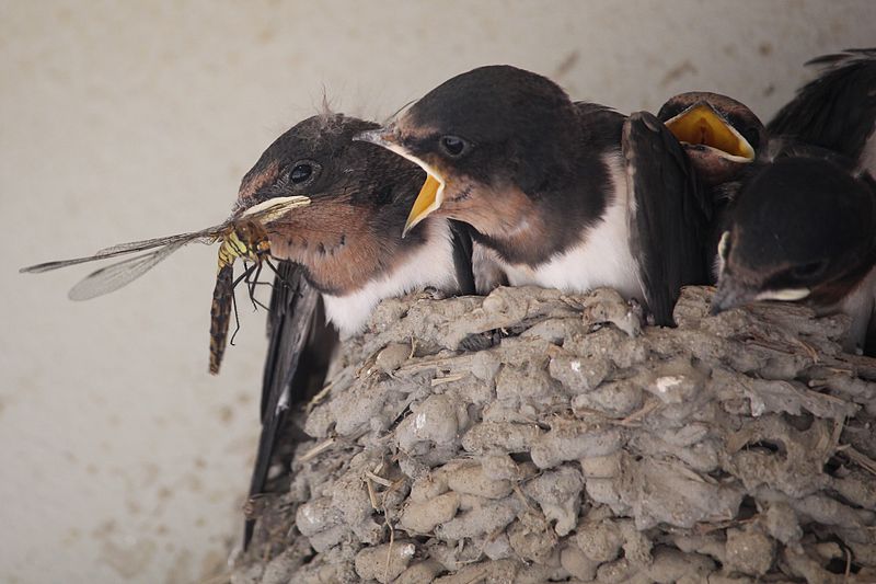
[[[0,2],[0,580],[193,582],[240,533],[264,314],[207,375],[215,249],[74,304],[18,267],[219,222],[283,130],[508,62],[622,112],[708,89],[769,117],[876,2]]]

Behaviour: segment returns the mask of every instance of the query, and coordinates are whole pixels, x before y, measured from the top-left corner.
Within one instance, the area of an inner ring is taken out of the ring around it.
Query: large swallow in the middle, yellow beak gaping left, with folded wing
[[[708,201],[648,113],[573,103],[542,76],[489,66],[358,139],[428,173],[406,230],[433,215],[470,224],[511,285],[611,286],[671,324],[680,287],[708,277]]]

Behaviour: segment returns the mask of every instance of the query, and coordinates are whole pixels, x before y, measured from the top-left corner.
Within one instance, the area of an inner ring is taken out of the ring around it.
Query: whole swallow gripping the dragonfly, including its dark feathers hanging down
[[[382,148],[353,141],[376,127],[332,113],[304,119],[277,138],[241,182],[242,208],[299,193],[311,197],[309,207],[296,209],[304,213],[266,226],[272,255],[285,262],[270,302],[251,497],[265,490],[289,406],[322,387],[336,342],[326,321],[349,336],[383,298],[423,287],[474,293],[464,226],[436,217],[402,239],[406,209],[426,175]],[[247,519],[244,547],[253,528]]]

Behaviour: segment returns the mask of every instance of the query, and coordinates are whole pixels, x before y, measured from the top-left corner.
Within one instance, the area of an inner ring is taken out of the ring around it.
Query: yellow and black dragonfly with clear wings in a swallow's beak
[[[219,373],[222,355],[228,344],[228,328],[234,302],[234,288],[241,278],[249,277],[253,268],[261,267],[262,263],[270,256],[270,241],[265,230],[265,225],[277,220],[291,209],[309,204],[310,198],[303,196],[275,197],[254,205],[242,213],[234,213],[226,221],[214,227],[163,238],[120,243],[99,250],[93,255],[45,262],[22,267],[20,272],[49,272],[72,265],[147,252],[92,272],[70,288],[67,295],[71,300],[89,300],[127,286],[188,243],[214,244],[219,242],[216,287],[214,288],[212,304],[210,305],[209,370],[216,375]],[[244,274],[235,280],[233,266],[239,257],[244,263],[246,261],[253,262],[253,266],[245,270]]]

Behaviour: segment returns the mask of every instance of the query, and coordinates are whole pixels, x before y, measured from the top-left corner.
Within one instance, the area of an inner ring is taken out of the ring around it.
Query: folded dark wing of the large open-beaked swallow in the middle
[[[659,325],[672,324],[682,286],[708,280],[712,203],[672,134],[647,112],[624,123],[631,249],[645,301]]]

